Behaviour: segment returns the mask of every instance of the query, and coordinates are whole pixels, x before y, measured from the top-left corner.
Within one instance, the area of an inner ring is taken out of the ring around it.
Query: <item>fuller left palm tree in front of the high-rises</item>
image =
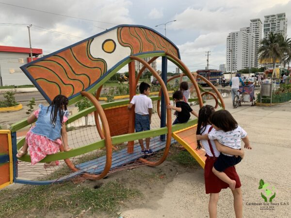
[[[284,56],[284,51],[280,47],[280,36],[277,33],[270,32],[269,37],[264,38],[260,42],[261,46],[259,47],[258,53],[260,54],[260,59],[272,58],[273,63],[273,75],[275,76],[275,60],[282,59]]]

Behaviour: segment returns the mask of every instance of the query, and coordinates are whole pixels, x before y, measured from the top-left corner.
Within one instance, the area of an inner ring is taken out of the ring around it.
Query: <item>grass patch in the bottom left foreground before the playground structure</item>
[[[76,187],[71,182],[49,186],[25,186],[17,190],[0,191],[0,217],[42,217],[49,211],[67,210],[78,213],[92,211],[116,212],[119,203],[140,196],[135,189],[109,182],[98,189]]]

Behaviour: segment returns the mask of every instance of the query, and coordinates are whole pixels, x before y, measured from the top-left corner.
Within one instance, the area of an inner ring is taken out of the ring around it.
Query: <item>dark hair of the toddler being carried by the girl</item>
[[[210,123],[228,132],[236,129],[238,123],[227,110],[218,110],[211,114]]]

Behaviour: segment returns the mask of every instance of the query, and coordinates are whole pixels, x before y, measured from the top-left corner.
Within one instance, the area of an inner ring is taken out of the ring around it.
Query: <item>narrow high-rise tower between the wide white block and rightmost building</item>
[[[262,28],[262,21],[259,18],[251,19],[250,20],[250,28],[249,32],[253,33],[255,36],[255,45],[254,45],[254,67],[259,68],[259,47],[260,47],[260,41],[262,40],[263,35],[263,28]]]

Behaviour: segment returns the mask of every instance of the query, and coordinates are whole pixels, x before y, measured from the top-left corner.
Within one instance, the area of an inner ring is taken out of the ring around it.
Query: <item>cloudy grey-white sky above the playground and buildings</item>
[[[210,68],[217,69],[226,62],[229,32],[248,26],[252,18],[264,22],[265,15],[283,12],[291,36],[289,0],[0,0],[0,45],[29,47],[28,24],[32,47],[46,55],[118,24],[145,25],[164,34],[163,26],[155,26],[177,20],[167,24],[166,34],[182,61],[191,71],[203,69],[211,51]],[[175,71],[173,64],[168,67]]]

